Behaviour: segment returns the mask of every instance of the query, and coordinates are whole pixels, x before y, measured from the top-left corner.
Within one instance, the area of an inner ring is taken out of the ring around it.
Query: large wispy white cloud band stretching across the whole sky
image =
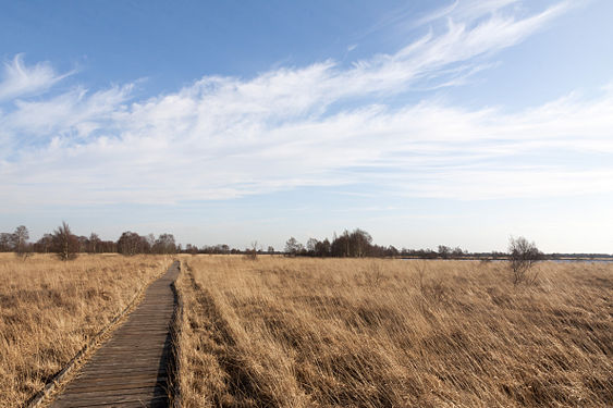
[[[20,98],[0,114],[0,139],[10,147],[0,152],[10,197],[2,206],[159,203],[351,184],[456,199],[613,189],[611,164],[561,164],[613,151],[611,91],[515,114],[432,99],[388,103],[425,83],[461,83],[483,55],[517,45],[565,10],[492,12],[510,3],[475,5],[440,33],[346,69],[324,61],[250,79],[205,76],[145,100],[133,99],[132,85]],[[551,157],[537,160],[535,151]]]

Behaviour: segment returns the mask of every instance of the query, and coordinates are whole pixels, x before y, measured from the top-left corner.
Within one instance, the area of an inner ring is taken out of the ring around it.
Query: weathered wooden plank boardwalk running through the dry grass
[[[65,407],[168,407],[167,366],[179,262],[51,404]]]

